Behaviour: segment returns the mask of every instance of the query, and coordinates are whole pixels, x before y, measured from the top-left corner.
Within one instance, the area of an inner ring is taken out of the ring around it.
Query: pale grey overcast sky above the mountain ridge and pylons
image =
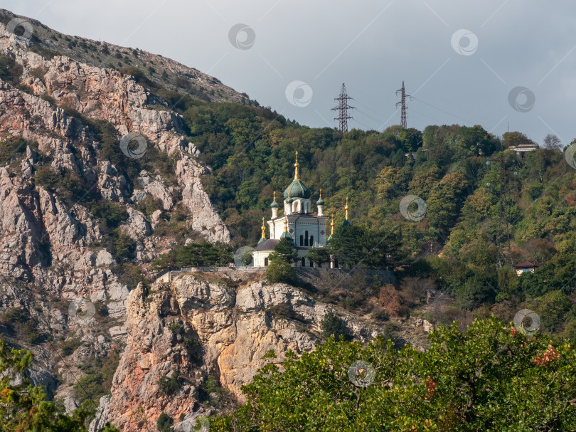
[[[576,138],[576,2],[1,0],[70,35],[141,48],[219,78],[302,125],[482,125]],[[244,30],[237,31],[237,24]]]

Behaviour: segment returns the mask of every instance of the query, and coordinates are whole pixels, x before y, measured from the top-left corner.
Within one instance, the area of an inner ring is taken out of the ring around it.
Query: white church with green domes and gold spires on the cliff
[[[284,191],[282,216],[278,214],[279,204],[276,201],[275,192],[274,200],[270,204],[272,218],[267,221],[270,238],[266,238],[265,220],[262,218],[262,238],[252,253],[255,267],[268,265],[268,255],[272,253],[274,246],[281,238],[288,238],[294,244],[299,258],[296,263],[298,267],[312,267],[312,263],[306,259],[309,249],[326,246],[330,234],[326,229],[328,217],[324,216],[322,190],[320,189],[320,197],[316,201],[316,213],[313,213],[310,199],[312,194],[300,179],[299,167],[298,152],[296,152],[294,180]]]

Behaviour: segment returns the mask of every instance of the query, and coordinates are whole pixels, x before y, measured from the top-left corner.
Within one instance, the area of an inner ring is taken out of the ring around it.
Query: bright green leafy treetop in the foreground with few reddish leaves
[[[287,352],[211,431],[573,431],[576,350],[491,317],[439,327],[426,352],[380,337]]]

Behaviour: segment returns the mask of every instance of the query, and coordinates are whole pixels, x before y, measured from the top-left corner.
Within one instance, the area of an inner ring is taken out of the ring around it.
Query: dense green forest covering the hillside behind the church
[[[322,189],[324,213],[334,214],[337,226],[348,196],[353,224],[398,240],[402,281],[454,300],[430,320],[511,320],[523,306],[540,314],[543,330],[576,337],[576,170],[557,137],[516,154],[509,147],[533,139],[522,132],[496,137],[479,125],[341,134],[262,107],[204,102],[183,116],[199,159],[213,169],[203,183],[235,247],[255,246],[272,193],[291,181],[298,151],[312,201]],[[422,220],[400,214],[407,195],[425,201]],[[498,243],[503,265],[496,265]],[[518,277],[513,265],[526,260],[540,268]]]

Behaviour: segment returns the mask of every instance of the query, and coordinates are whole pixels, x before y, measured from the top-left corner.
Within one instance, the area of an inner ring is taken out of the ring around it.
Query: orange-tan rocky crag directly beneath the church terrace
[[[142,416],[133,420],[135,409],[146,413],[150,425],[161,412],[193,418],[198,389],[210,375],[242,402],[241,386],[257,369],[267,362],[282,364],[288,349],[314,349],[327,310],[289,285],[256,282],[235,290],[217,275],[181,275],[171,285],[152,285],[149,294],[140,285],[128,297],[127,346],[114,375],[109,418],[123,431],[142,428]],[[339,315],[351,322],[358,339],[382,332],[345,312]],[[190,340],[200,342],[196,354]],[[270,350],[275,358],[262,359]],[[159,380],[174,369],[181,373],[182,386],[166,396]]]

